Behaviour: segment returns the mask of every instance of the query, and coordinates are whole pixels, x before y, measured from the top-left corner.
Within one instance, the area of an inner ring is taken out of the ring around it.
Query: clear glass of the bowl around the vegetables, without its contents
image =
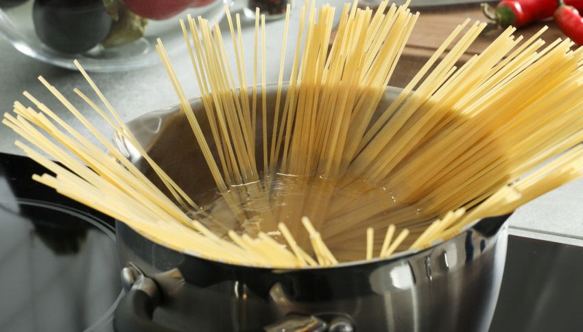
[[[0,0],[0,7],[3,0]],[[145,35],[126,45],[106,48],[101,44],[80,54],[65,54],[45,45],[35,32],[33,5],[29,0],[11,8],[0,8],[0,35],[23,54],[37,60],[54,64],[58,67],[75,69],[73,60],[81,62],[86,71],[111,72],[128,71],[158,63],[156,38],[162,38],[169,54],[174,54],[186,47],[178,19],[203,16],[209,21],[220,20],[224,16],[224,5],[231,0],[213,0],[208,5],[187,8],[184,12],[162,21],[149,20]],[[160,0],[164,1],[164,0]],[[10,1],[8,1],[10,3]]]

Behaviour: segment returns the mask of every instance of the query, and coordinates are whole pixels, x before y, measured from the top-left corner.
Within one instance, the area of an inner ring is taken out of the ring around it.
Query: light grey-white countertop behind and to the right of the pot
[[[329,1],[332,4],[344,1]],[[292,11],[290,21],[290,40],[295,40],[294,34],[298,29],[298,6]],[[222,22],[222,27],[226,27]],[[177,23],[177,29],[178,29]],[[281,49],[281,35],[283,21],[267,23],[267,82],[277,80],[278,71],[270,69],[278,68]],[[231,45],[229,34],[224,33],[225,45]],[[243,40],[253,40],[252,24],[243,27]],[[292,62],[294,46],[288,45],[285,62],[289,75],[289,67]],[[234,61],[232,49],[228,56]],[[246,60],[252,63],[252,47],[246,49]],[[186,53],[172,58],[176,72],[185,91],[189,96],[199,95],[198,86],[192,74],[191,64]],[[73,88],[78,87],[89,93],[90,87],[86,84],[80,73],[53,67],[43,62],[24,56],[16,49],[0,39],[0,109],[3,112],[12,110],[15,99],[24,101],[21,95],[26,90],[32,93],[41,102],[47,104],[58,115],[69,123],[74,123],[75,128],[81,128],[80,123],[60,107],[59,102],[36,80],[38,75],[43,75],[53,86],[56,86],[66,97],[75,101],[75,106],[95,123],[100,123],[97,128],[103,130],[108,137],[112,137],[112,131],[106,128],[104,123],[98,121],[95,112],[84,105],[73,93]],[[251,73],[248,71],[248,82],[251,82]],[[121,115],[124,121],[129,121],[144,112],[164,108],[177,104],[178,99],[174,93],[163,66],[139,69],[122,73],[93,73],[91,77],[104,91],[106,97]],[[285,77],[285,76],[284,76]],[[86,132],[80,130],[81,132]],[[21,154],[14,146],[16,135],[7,127],[0,126],[0,152]],[[530,204],[516,211],[510,219],[511,233],[539,237],[553,241],[563,241],[572,244],[581,244],[583,241],[583,179],[570,183],[556,191],[547,193]],[[535,231],[535,233],[532,233]]]

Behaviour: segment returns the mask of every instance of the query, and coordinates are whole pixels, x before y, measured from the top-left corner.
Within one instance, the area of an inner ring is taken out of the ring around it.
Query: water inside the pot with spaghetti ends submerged
[[[251,237],[264,232],[285,245],[277,228],[278,222],[284,222],[298,244],[309,251],[309,235],[300,222],[307,216],[342,259],[355,259],[354,255],[362,254],[367,227],[384,232],[392,222],[411,224],[427,220],[418,207],[399,202],[394,191],[347,176],[276,174],[231,186],[228,193],[214,189],[194,199],[202,211],[190,211],[190,216],[224,239],[229,238],[228,230]],[[208,215],[221,225],[212,222]],[[375,242],[382,241],[383,235],[378,232]]]

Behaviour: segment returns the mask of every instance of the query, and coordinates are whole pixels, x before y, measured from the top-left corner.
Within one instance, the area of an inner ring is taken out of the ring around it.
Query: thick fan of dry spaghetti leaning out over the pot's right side
[[[507,41],[512,45],[510,38]],[[433,95],[420,97],[427,90],[419,88],[396,106],[394,116],[348,169],[349,174],[359,174],[352,178],[366,178],[390,193],[373,200],[361,195],[349,204],[337,202],[329,221],[335,223],[333,233],[326,239],[331,244],[344,242],[355,234],[353,230],[381,226],[384,220],[410,225],[411,206],[420,221],[467,202],[471,207],[471,202],[484,200],[582,141],[581,56],[570,46],[564,40],[538,53],[532,47],[531,55],[516,57],[498,71],[494,66],[505,53],[497,50],[497,59],[484,63],[487,49],[459,69],[450,82],[429,86],[428,90],[436,88]],[[487,67],[481,67],[482,63]],[[505,70],[506,66],[512,70]],[[499,75],[501,71],[508,74]],[[471,88],[472,93],[464,88]],[[350,222],[355,213],[369,219],[356,226]]]

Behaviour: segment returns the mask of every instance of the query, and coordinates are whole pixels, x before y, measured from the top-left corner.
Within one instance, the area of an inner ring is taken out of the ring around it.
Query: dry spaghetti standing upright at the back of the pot
[[[418,17],[418,14],[411,14],[406,5],[399,8],[392,5],[387,14],[383,14],[387,4],[387,1],[383,2],[372,19],[372,11],[357,9],[356,2],[353,3],[351,10],[349,10],[350,5],[345,5],[337,34],[338,42],[332,47],[329,55],[326,54],[326,45],[329,44],[334,9],[329,5],[324,5],[317,12],[313,2],[310,5],[309,14],[307,6],[302,8],[300,19],[302,24],[298,32],[298,45],[296,45],[292,75],[289,86],[287,86],[285,102],[282,98],[282,82],[287,40],[283,38],[282,68],[278,78],[271,139],[267,134],[265,66],[263,61],[261,69],[263,123],[261,123],[261,127],[263,130],[263,171],[267,175],[264,181],[264,193],[269,193],[271,183],[276,178],[276,171],[295,175],[314,174],[316,168],[319,167],[320,171],[318,172],[323,176],[336,177],[337,174],[340,174],[342,152],[336,151],[336,147],[342,146],[343,143],[338,144],[338,142],[346,141],[348,132],[355,132],[347,126],[351,117],[358,116],[363,119],[359,121],[362,128],[358,128],[357,131],[364,132],[365,128],[362,123],[366,123],[372,117],[372,112],[385,91],[396,60],[401,54]],[[233,50],[237,58],[239,83],[244,86],[245,78],[242,70],[244,60],[241,51],[239,16],[235,16],[237,21],[237,34],[235,34],[228,8],[226,11],[233,40]],[[302,39],[303,23],[307,16],[306,41],[300,58],[300,40]],[[259,17],[257,16],[256,27],[259,26]],[[316,17],[318,18],[317,23]],[[289,17],[286,19],[284,37],[287,36],[288,20]],[[261,26],[264,27],[264,22],[261,23]],[[189,55],[196,80],[203,93],[206,114],[211,124],[214,143],[217,146],[216,154],[223,170],[224,180],[215,175],[219,173],[219,167],[215,165],[215,161],[205,155],[213,177],[215,180],[218,178],[217,186],[223,187],[223,182],[235,185],[256,183],[258,180],[257,170],[260,168],[254,163],[255,159],[250,157],[254,151],[255,141],[255,132],[252,128],[257,128],[257,124],[251,123],[250,119],[257,119],[256,104],[249,107],[249,98],[246,96],[244,88],[241,88],[240,93],[237,94],[230,65],[225,60],[226,51],[218,25],[215,24],[211,28],[208,21],[199,17],[197,26],[195,20],[189,17],[188,26],[190,27],[192,45],[187,35],[186,24],[181,21],[181,26],[185,41],[189,46]],[[265,32],[264,28],[262,32]],[[388,38],[391,35],[396,38]],[[261,53],[263,54],[262,60],[264,60],[264,34],[262,37]],[[382,40],[386,40],[386,42],[379,42]],[[255,46],[254,63],[257,62],[257,29]],[[193,125],[195,137],[204,147],[203,150],[206,150],[209,143],[201,139],[203,135],[197,128],[198,123],[196,123],[184,91],[175,80],[176,73],[172,69],[161,41],[159,41],[157,49],[176,88],[182,109],[187,112],[189,121]],[[205,75],[202,74],[203,72]],[[252,91],[257,91],[255,84],[257,84],[257,80],[254,80]],[[356,93],[349,93],[355,84],[357,86]],[[322,98],[318,100],[320,95]],[[256,99],[257,93],[252,93],[252,96],[253,99]],[[281,106],[283,106],[282,110]],[[339,109],[341,112],[337,112]],[[337,114],[342,114],[342,117],[332,116],[333,110]],[[294,131],[297,134],[284,135],[286,131]],[[316,142],[318,144],[315,144]],[[315,146],[316,150],[313,149]],[[283,156],[281,162],[278,158],[280,155]],[[300,156],[300,158],[288,158],[288,155]],[[322,163],[322,161],[326,161],[326,163]],[[239,174],[243,174],[243,176],[241,177]],[[252,177],[246,177],[244,174],[252,174]],[[307,182],[303,180],[307,180]],[[307,193],[313,181],[307,178],[303,178],[303,180],[283,179],[281,182],[287,187],[287,191]],[[231,199],[237,202],[254,202],[257,195],[261,196],[259,188],[255,185],[233,188],[235,190],[232,193],[222,193],[223,195],[234,195],[235,198]],[[269,196],[263,195],[259,205],[265,206]],[[310,212],[303,209],[304,200],[276,201],[271,202],[271,204],[276,207],[274,217],[261,215],[256,218],[256,220],[261,220],[262,229],[276,230],[274,228],[275,221],[284,221],[288,222],[289,227],[292,228],[292,233],[297,235],[300,231],[299,225],[297,222],[291,221],[299,220],[305,211]],[[257,211],[257,209],[251,210]],[[252,217],[248,215],[247,221]],[[267,219],[269,217],[274,218],[272,222]],[[315,220],[318,221],[320,218],[315,218]],[[242,226],[250,233],[248,222]],[[316,226],[318,226],[317,223]]]

